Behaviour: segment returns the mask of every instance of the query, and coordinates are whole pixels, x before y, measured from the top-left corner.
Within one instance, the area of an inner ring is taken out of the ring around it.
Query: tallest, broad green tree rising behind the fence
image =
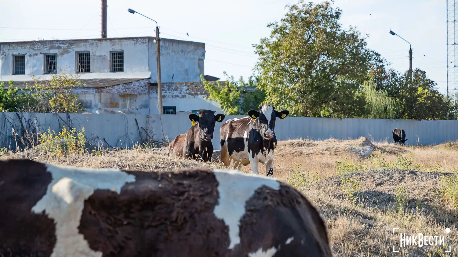
[[[256,45],[259,88],[266,102],[293,116],[360,117],[366,115],[359,94],[368,72],[381,65],[365,38],[339,23],[341,10],[330,2],[289,6],[281,22],[268,24],[268,38]]]

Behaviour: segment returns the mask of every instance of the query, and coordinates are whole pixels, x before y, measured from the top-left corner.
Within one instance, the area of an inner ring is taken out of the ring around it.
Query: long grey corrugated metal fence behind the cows
[[[60,132],[62,126],[85,127],[86,136],[104,146],[130,148],[136,143],[153,140],[172,141],[177,135],[191,127],[188,113],[177,115],[122,115],[122,114],[44,114],[44,113],[0,113],[0,146],[14,149],[18,138],[26,131],[44,132],[48,129]],[[226,116],[228,119],[245,116]],[[219,149],[219,128],[215,127],[212,140]],[[14,128],[14,130],[13,130]],[[378,120],[378,119],[332,119],[287,117],[277,119],[275,134],[278,140],[311,138],[354,139],[360,136],[372,141],[392,139],[394,128],[405,130],[408,143],[432,145],[458,140],[457,120]],[[14,133],[17,133],[16,140]]]

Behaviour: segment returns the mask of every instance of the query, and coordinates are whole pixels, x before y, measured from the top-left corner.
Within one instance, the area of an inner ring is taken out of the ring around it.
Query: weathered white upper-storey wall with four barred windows
[[[200,81],[204,74],[205,44],[161,39],[162,82]],[[110,72],[111,52],[124,51],[124,72]],[[157,82],[156,43],[152,37],[98,38],[0,43],[0,81],[30,81],[30,75],[44,80],[44,56],[56,54],[57,67],[65,72],[77,70],[77,53],[89,51],[91,72],[81,73],[81,79],[91,78],[151,78]],[[25,75],[12,75],[13,55],[25,55]]]

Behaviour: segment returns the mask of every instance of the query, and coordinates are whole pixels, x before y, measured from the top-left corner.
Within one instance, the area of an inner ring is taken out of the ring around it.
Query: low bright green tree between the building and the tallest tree
[[[207,100],[215,101],[219,104],[225,115],[245,115],[250,109],[257,109],[264,101],[266,95],[260,89],[246,91],[245,87],[256,87],[257,80],[251,76],[248,82],[240,76],[239,81],[234,80],[234,76],[227,76],[225,82],[207,82],[201,75],[205,89],[208,91]]]

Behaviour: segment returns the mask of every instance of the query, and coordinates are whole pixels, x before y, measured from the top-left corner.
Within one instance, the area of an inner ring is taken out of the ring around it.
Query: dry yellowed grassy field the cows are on
[[[458,254],[458,143],[400,147],[374,143],[369,158],[346,150],[363,140],[278,142],[274,175],[296,187],[323,214],[334,256],[456,256]],[[92,168],[161,171],[222,168],[170,158],[152,149],[50,156],[43,151],[2,153]],[[264,167],[260,165],[260,171]],[[251,173],[250,166],[242,172]],[[262,172],[263,173],[263,172]],[[393,228],[399,228],[393,234]],[[450,233],[445,229],[450,228]],[[444,236],[445,246],[399,248],[400,233]],[[393,253],[393,246],[398,253]],[[451,253],[447,253],[450,248]]]

